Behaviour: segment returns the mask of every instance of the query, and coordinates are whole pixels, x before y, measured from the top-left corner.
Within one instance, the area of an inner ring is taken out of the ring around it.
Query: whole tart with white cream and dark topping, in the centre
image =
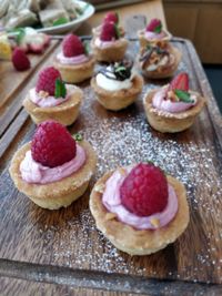
[[[143,86],[143,79],[131,62],[110,64],[92,78],[91,86],[97,100],[105,109],[118,111],[132,104]]]

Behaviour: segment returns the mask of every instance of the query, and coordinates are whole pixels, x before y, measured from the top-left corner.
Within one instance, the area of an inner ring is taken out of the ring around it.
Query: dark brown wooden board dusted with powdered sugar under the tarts
[[[81,84],[84,101],[78,121],[69,130],[82,133],[94,146],[99,160],[87,193],[68,208],[47,211],[38,207],[14,188],[8,173],[14,151],[30,141],[34,131],[21,102],[34,85],[38,71],[51,62],[58,48],[52,49],[52,54],[20,82],[19,88],[12,89],[10,99],[1,96],[6,101],[0,119],[2,276],[75,288],[81,286],[90,290],[117,290],[117,294],[102,292],[97,295],[122,296],[123,292],[221,295],[222,119],[192,44],[181,39],[172,42],[183,52],[179,71],[189,72],[191,89],[204,95],[208,105],[190,130],[165,135],[149,126],[142,96],[168,80],[147,80],[138,102],[121,112],[105,111],[95,101],[89,81]],[[138,42],[131,41],[129,54],[135,57],[137,52]],[[10,85],[10,76],[4,79]],[[108,170],[147,160],[152,160],[185,184],[190,224],[184,234],[165,249],[150,256],[129,256],[117,251],[97,231],[89,212],[89,195],[95,181]],[[7,282],[2,283],[6,286]],[[95,294],[89,292],[85,295]]]

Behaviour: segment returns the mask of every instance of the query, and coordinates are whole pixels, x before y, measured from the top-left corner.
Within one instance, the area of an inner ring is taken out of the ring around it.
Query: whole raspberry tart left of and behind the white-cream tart
[[[74,34],[64,38],[62,51],[53,60],[54,68],[60,71],[62,80],[67,83],[79,83],[91,78],[94,63],[95,60],[87,45]]]

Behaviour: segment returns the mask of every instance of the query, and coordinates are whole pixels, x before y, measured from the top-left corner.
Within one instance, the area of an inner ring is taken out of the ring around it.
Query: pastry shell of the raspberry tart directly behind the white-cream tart
[[[91,41],[91,48],[94,54],[94,58],[99,62],[118,62],[123,60],[127,48],[128,41],[124,38],[115,40],[115,42],[107,48],[99,48],[94,44],[94,40]]]

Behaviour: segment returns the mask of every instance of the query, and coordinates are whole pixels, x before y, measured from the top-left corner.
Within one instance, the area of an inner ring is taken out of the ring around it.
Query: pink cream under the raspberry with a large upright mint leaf
[[[29,99],[38,106],[41,108],[50,108],[60,105],[64,102],[67,102],[70,99],[70,95],[75,90],[75,86],[73,85],[65,85],[67,88],[67,96],[65,98],[54,98],[53,95],[48,95],[46,98],[39,95],[39,93],[36,91],[36,89],[31,89],[29,91]]]

